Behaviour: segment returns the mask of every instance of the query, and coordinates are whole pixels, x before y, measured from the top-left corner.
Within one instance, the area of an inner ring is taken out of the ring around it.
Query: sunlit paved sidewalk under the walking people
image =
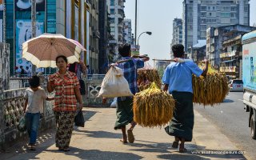
[[[121,130],[114,130],[114,108],[86,108],[85,127],[74,129],[69,152],[54,145],[54,130],[42,133],[36,151],[20,142],[0,159],[245,159],[242,154],[195,154],[196,151],[238,150],[225,135],[195,111],[194,139],[187,142],[188,152],[180,154],[171,148],[173,137],[164,128],[134,129],[135,142],[123,145]],[[194,153],[194,154],[192,154]]]

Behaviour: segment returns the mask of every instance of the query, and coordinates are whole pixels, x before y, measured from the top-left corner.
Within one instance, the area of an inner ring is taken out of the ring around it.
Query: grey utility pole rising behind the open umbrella
[[[32,38],[37,36],[36,23],[37,23],[37,3],[36,0],[31,0],[31,23],[32,23]],[[35,74],[35,66],[32,65],[32,75]]]

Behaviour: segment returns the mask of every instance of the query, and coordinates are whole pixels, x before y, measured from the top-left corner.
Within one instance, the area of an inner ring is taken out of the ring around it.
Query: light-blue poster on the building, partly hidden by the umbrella
[[[44,33],[44,23],[37,22],[36,36]],[[16,19],[16,66],[29,67],[31,71],[31,63],[22,58],[22,43],[32,37],[32,25],[30,19]],[[38,70],[37,70],[38,71]],[[42,70],[40,70],[42,71]]]

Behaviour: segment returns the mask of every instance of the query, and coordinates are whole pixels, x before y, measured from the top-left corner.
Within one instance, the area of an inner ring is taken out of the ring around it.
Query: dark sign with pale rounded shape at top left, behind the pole
[[[45,0],[36,0],[37,11],[45,10]],[[15,0],[15,10],[31,10],[31,0]]]

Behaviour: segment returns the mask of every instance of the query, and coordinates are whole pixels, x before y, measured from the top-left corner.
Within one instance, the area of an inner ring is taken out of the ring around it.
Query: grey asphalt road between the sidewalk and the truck
[[[219,106],[194,105],[194,109],[214,123],[239,150],[246,151],[246,158],[255,159],[256,140],[250,137],[249,113],[244,111],[242,94],[230,92]]]

